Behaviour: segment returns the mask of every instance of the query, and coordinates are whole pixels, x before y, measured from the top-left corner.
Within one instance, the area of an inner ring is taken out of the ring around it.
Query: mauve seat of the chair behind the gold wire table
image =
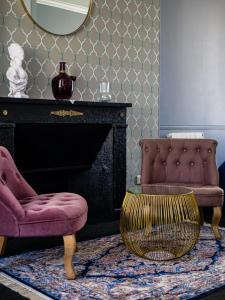
[[[158,182],[154,184],[142,184],[142,191],[148,193],[150,186],[152,185],[172,185],[172,186],[183,186],[190,188],[195,194],[196,201],[200,207],[210,206],[223,206],[224,192],[218,186],[215,185],[200,185],[190,183],[173,183],[173,182]]]

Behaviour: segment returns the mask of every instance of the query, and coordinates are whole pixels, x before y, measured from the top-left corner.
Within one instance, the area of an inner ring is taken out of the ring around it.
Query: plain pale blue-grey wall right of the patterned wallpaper
[[[225,160],[225,1],[161,0],[160,134],[203,131]]]

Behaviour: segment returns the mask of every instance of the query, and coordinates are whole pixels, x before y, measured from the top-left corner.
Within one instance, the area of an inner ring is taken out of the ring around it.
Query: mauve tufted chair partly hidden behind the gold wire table
[[[140,146],[142,190],[147,193],[151,184],[191,188],[202,220],[202,207],[213,207],[212,229],[219,239],[224,192],[218,186],[217,142],[211,139],[143,139]]]

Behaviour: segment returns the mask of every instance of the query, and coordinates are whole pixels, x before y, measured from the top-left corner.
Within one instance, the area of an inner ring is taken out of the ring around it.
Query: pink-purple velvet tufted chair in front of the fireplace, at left
[[[77,194],[37,195],[8,150],[0,146],[0,255],[6,237],[62,235],[65,272],[68,279],[74,279],[75,233],[86,223],[87,210],[86,200]]]

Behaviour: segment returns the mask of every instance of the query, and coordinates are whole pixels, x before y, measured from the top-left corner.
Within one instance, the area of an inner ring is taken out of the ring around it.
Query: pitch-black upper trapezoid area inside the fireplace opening
[[[17,166],[24,174],[90,168],[110,129],[107,124],[17,124]]]

